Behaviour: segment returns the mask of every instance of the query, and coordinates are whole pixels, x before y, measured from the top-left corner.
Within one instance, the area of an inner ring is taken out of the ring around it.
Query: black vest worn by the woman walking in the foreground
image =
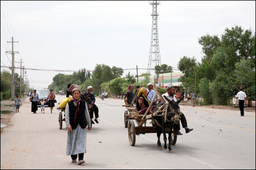
[[[69,121],[72,129],[76,129],[78,123],[82,129],[87,127],[87,121],[86,121],[86,102],[81,101],[79,104],[79,116],[78,120],[75,122],[75,115],[76,115],[76,107],[74,105],[73,101],[70,101],[69,103]]]

